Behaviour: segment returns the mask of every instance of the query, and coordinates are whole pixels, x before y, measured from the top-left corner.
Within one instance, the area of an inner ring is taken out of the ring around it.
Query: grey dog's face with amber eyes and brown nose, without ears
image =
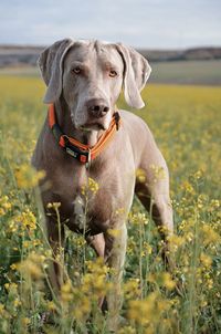
[[[63,95],[74,126],[107,129],[123,84],[124,64],[116,49],[75,43],[63,69]]]

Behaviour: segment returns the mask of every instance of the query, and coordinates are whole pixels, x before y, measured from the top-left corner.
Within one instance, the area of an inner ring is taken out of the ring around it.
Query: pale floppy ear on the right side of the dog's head
[[[120,43],[116,44],[116,48],[124,62],[125,100],[128,105],[139,109],[145,106],[140,91],[150,75],[151,67],[148,61],[134,49]]]

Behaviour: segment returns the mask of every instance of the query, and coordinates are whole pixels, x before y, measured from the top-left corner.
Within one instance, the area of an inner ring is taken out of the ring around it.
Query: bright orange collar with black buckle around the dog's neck
[[[78,140],[65,135],[56,123],[54,105],[50,104],[49,106],[49,126],[52,129],[55,139],[66,153],[83,164],[90,164],[91,160],[94,160],[102,153],[102,150],[113,138],[116,131],[118,131],[120,123],[122,121],[119,114],[116,112],[113,115],[109,128],[101,136],[96,145],[90,147],[88,145],[84,145]]]

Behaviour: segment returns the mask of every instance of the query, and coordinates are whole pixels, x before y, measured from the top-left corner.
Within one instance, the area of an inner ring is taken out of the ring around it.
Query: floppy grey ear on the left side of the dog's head
[[[62,93],[63,60],[73,44],[71,39],[61,40],[40,54],[38,65],[48,86],[44,103],[54,103]]]

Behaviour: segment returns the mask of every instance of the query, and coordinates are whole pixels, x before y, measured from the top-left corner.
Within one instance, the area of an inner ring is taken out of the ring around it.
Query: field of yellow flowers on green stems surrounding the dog
[[[97,307],[97,299],[112,290],[108,268],[81,236],[67,231],[70,280],[61,299],[50,289],[40,175],[29,166],[46,115],[43,92],[39,77],[0,76],[0,334],[108,333]],[[176,268],[165,271],[162,241],[135,199],[118,333],[220,333],[221,88],[150,84],[143,96],[146,107],[136,113],[150,126],[170,170]],[[123,100],[119,106],[126,107]]]

